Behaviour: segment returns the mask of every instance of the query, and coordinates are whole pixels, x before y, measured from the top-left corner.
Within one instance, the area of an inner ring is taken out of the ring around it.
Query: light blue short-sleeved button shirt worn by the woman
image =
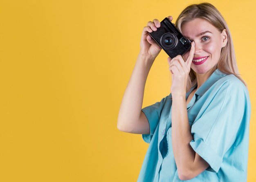
[[[186,99],[196,88],[186,93]],[[173,156],[171,94],[142,112],[150,134],[142,134],[150,143],[138,182],[180,182]],[[240,79],[219,69],[195,92],[187,105],[193,140],[190,145],[210,165],[189,182],[246,182],[251,103]]]

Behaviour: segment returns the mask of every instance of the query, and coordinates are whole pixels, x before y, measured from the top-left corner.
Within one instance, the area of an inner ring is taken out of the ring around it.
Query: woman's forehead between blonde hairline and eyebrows
[[[202,18],[195,18],[189,22],[183,23],[181,31],[187,38],[196,37],[196,35],[204,31],[210,31],[213,34],[218,33],[218,29],[216,29],[215,26]]]

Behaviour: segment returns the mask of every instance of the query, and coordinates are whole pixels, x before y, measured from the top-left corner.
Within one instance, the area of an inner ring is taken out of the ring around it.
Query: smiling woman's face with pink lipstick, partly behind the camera
[[[211,23],[201,18],[195,18],[181,26],[182,34],[191,42],[195,42],[195,53],[191,68],[198,74],[213,71],[220,59],[221,48],[227,44],[227,33],[222,33]],[[189,51],[183,55],[184,60]],[[195,62],[198,61],[198,62]]]

